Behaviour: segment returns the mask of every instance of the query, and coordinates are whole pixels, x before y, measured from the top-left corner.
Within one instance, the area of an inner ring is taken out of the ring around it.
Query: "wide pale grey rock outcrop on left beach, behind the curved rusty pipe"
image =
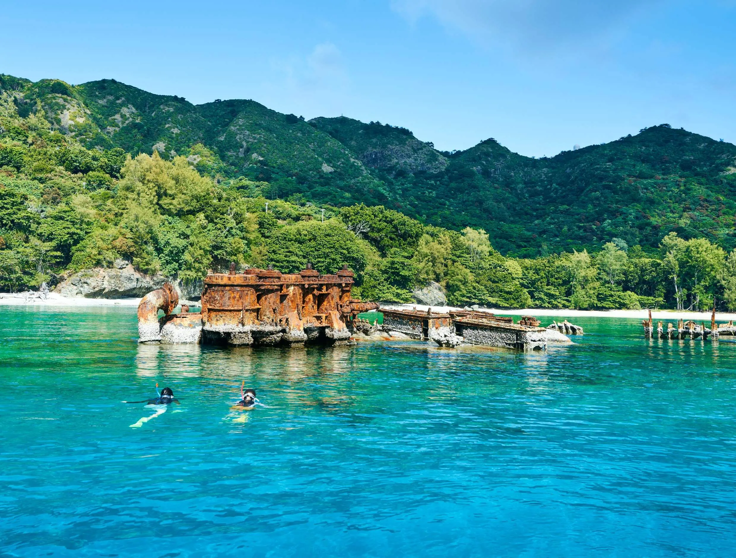
[[[54,292],[65,297],[143,297],[166,282],[163,275],[145,275],[124,261],[116,261],[114,265],[110,269],[96,267],[74,273],[59,283]]]

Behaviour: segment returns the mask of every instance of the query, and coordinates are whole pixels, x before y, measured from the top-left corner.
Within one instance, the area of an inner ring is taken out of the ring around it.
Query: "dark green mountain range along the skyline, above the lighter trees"
[[[644,250],[670,231],[736,246],[736,146],[667,125],[609,144],[528,158],[489,139],[439,152],[409,130],[277,113],[250,100],[192,105],[115,80],[71,86],[0,76],[1,110],[88,149],[184,155],[216,180],[341,207],[385,205],[428,225],[482,227],[504,254],[597,250],[620,238]]]

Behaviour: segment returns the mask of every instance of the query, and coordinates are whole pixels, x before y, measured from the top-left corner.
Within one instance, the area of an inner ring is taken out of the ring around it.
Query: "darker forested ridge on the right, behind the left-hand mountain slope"
[[[505,253],[593,248],[615,237],[654,248],[670,231],[736,245],[736,146],[685,130],[656,126],[534,159],[493,139],[442,154],[400,128],[312,122],[389,185],[393,208],[443,227],[483,227]]]

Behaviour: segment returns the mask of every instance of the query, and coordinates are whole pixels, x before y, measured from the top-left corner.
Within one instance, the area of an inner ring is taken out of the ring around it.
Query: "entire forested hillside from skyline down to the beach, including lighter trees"
[[[537,160],[378,122],[0,75],[0,292],[273,264],[453,305],[736,309],[736,147],[666,125]],[[730,250],[730,253],[726,250]]]

